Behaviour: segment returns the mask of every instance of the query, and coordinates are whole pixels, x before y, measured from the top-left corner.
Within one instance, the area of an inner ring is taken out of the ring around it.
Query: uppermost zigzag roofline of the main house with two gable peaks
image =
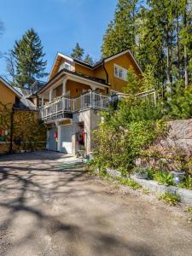
[[[58,61],[58,58],[59,58],[59,57],[64,58],[64,59],[67,59],[68,61],[72,61],[72,62],[74,62],[74,63],[78,63],[79,65],[84,66],[84,67],[87,67],[87,68],[89,68],[89,69],[91,69],[91,70],[94,70],[96,67],[101,66],[102,63],[106,63],[106,62],[108,62],[108,61],[111,61],[111,60],[113,60],[113,59],[115,59],[115,58],[118,58],[118,57],[121,56],[121,55],[125,55],[126,53],[129,53],[129,54],[131,55],[131,58],[132,58],[132,60],[134,61],[134,63],[136,64],[137,68],[139,69],[139,71],[140,71],[141,73],[143,73],[141,67],[139,66],[139,64],[138,64],[138,62],[136,61],[135,57],[132,55],[130,49],[126,49],[126,50],[124,50],[124,51],[122,51],[122,52],[119,52],[119,53],[117,53],[117,54],[115,54],[115,55],[111,55],[111,56],[108,56],[108,57],[106,57],[106,58],[103,58],[101,61],[96,62],[94,65],[90,65],[90,64],[88,64],[88,63],[86,63],[86,62],[84,62],[84,61],[80,61],[80,60],[78,60],[78,59],[76,59],[76,58],[73,58],[72,56],[65,55],[65,54],[63,54],[63,53],[58,52],[57,55],[56,55],[56,57],[55,57],[54,64],[53,64],[53,66],[52,66],[52,68],[51,68],[51,71],[50,71],[50,74],[49,74],[49,79],[50,79],[50,75],[51,75],[51,73],[52,73],[52,71],[53,71],[53,69],[54,69],[54,67],[55,67],[55,63],[56,63],[56,61]],[[49,79],[48,79],[48,80],[49,80]]]

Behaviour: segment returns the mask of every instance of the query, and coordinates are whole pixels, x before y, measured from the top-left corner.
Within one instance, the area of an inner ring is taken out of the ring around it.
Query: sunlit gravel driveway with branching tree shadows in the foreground
[[[0,157],[0,255],[192,255],[192,224],[177,208],[122,194],[73,160]]]

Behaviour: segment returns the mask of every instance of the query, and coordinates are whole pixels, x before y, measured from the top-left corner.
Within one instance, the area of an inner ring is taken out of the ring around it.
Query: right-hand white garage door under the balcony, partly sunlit
[[[72,125],[61,126],[61,152],[72,154]]]

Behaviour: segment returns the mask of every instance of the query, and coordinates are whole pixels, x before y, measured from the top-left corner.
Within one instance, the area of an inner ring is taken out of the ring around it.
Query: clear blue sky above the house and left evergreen
[[[101,56],[102,37],[113,19],[117,0],[1,0],[0,20],[5,31],[0,51],[13,49],[27,29],[38,32],[48,61],[49,73],[57,52],[70,55],[79,42],[94,61]],[[6,75],[6,64],[0,59],[0,75]]]

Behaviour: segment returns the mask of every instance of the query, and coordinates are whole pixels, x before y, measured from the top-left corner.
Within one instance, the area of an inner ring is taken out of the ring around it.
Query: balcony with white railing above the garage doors
[[[41,118],[44,122],[49,123],[56,119],[73,118],[73,113],[93,109],[106,109],[108,107],[110,97],[90,90],[81,96],[69,98],[60,96],[54,101],[48,102],[40,109]]]

